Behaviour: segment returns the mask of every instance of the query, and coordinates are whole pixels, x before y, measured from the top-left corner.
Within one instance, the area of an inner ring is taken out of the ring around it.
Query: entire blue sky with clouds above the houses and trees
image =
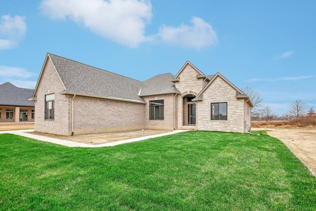
[[[189,60],[281,115],[316,108],[314,0],[0,0],[0,84],[34,88],[47,52],[139,81]]]

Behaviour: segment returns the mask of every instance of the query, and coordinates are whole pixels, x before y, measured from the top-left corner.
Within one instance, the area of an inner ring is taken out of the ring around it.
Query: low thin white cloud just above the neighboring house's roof
[[[22,88],[34,88],[37,81],[27,80],[36,77],[37,74],[20,67],[0,66],[0,84],[10,82]]]

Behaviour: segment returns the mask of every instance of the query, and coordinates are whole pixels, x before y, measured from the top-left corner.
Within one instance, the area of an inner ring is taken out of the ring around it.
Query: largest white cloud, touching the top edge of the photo
[[[152,17],[148,0],[43,0],[40,9],[52,19],[68,17],[101,37],[130,47],[151,40],[144,35]]]

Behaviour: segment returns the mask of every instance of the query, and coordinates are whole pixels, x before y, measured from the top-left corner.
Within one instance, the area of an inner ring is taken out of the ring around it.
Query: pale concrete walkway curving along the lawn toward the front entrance
[[[91,145],[91,144],[84,144],[84,143],[79,143],[75,141],[67,141],[67,140],[62,140],[58,138],[51,138],[51,137],[46,137],[46,136],[41,136],[41,135],[35,135],[31,134],[28,132],[33,132],[34,129],[21,129],[21,130],[6,130],[6,131],[0,131],[0,133],[10,133],[10,134],[15,134],[15,135],[21,135],[25,136],[28,138],[33,138],[37,139],[40,141],[46,141],[54,144],[59,144],[67,147],[110,147],[110,146],[116,146],[119,144],[125,144],[125,143],[130,143],[130,142],[135,142],[135,141],[141,141],[141,140],[146,140],[149,138],[155,138],[155,137],[160,137],[164,135],[171,135],[179,132],[185,132],[187,130],[174,130],[172,132],[166,132],[166,133],[161,133],[161,134],[156,134],[156,135],[149,135],[149,136],[144,136],[144,137],[139,137],[139,138],[132,138],[132,139],[127,139],[127,140],[122,140],[122,141],[114,141],[110,143],[105,143],[105,144],[97,144],[97,145]]]

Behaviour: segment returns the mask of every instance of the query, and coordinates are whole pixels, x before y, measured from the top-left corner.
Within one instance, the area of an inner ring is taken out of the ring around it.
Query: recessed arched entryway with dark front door
[[[196,125],[196,104],[192,101],[195,97],[193,94],[188,94],[183,97],[183,126]]]

